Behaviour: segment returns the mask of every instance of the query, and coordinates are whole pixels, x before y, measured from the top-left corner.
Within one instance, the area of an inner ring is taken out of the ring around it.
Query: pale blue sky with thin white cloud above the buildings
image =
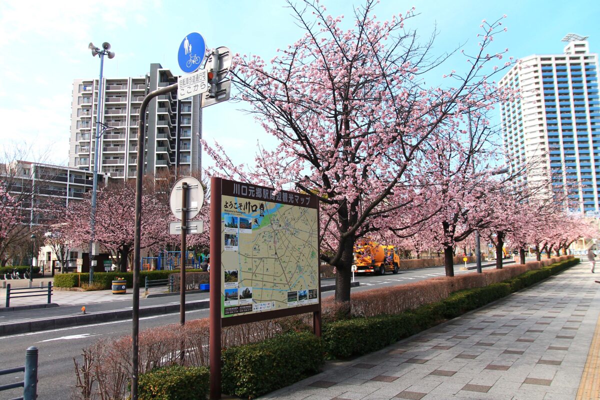
[[[353,6],[361,2],[323,0],[328,13],[352,23]],[[209,48],[227,46],[234,53],[271,59],[275,50],[301,37],[289,8],[280,0],[160,1],[0,0],[0,152],[15,145],[31,146],[30,161],[67,164],[73,79],[98,76],[100,62],[87,46],[112,44],[116,57],[106,60],[107,77],[142,76],[149,64],[181,73],[176,52],[189,32],[200,32]],[[494,38],[499,49],[520,58],[560,53],[568,32],[589,36],[592,52],[600,48],[598,1],[392,1],[376,7],[379,19],[415,6],[418,17],[408,26],[427,38],[437,24],[434,54],[463,43],[474,47],[482,19],[503,20],[508,32]],[[439,69],[461,71],[455,57]],[[431,82],[434,83],[439,82]],[[215,137],[236,163],[252,163],[256,143],[269,148],[266,136],[244,104],[217,104],[204,112],[203,136]],[[498,112],[499,113],[499,112]],[[203,164],[208,163],[207,158]]]

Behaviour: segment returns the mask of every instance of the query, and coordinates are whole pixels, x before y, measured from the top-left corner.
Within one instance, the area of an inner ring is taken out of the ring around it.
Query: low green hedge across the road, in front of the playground
[[[169,279],[169,275],[177,270],[140,271],[140,286],[143,286],[146,276],[148,279]],[[186,269],[186,272],[198,272],[197,269]],[[116,278],[125,278],[127,287],[133,287],[133,272],[94,272],[94,282],[102,290],[110,289],[112,281]],[[79,282],[88,282],[89,273],[58,273],[54,276],[55,287],[79,287]]]

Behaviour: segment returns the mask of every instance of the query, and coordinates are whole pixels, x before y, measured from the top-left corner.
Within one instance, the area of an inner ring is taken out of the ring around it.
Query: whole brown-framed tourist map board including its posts
[[[313,314],[320,336],[319,207],[311,194],[211,178],[210,398],[221,328]]]

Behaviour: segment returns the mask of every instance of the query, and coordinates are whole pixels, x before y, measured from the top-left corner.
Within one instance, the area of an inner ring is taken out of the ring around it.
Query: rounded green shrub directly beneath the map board
[[[323,348],[312,333],[284,333],[221,353],[224,393],[253,399],[319,372]]]

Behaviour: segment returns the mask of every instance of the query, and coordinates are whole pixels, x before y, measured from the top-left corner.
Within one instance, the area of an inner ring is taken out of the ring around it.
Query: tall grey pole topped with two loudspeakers
[[[98,105],[96,110],[96,132],[94,140],[94,184],[92,186],[92,210],[89,221],[89,284],[91,285],[94,281],[94,267],[95,267],[95,224],[96,224],[96,197],[98,191],[98,162],[100,160],[100,136],[106,131],[106,125],[100,122],[101,110],[102,110],[102,72],[104,68],[104,55],[108,58],[113,58],[115,53],[110,52],[110,43],[104,42],[102,49],[95,47],[93,43],[90,43],[88,48],[92,50],[92,57],[98,55],[100,57],[100,79],[98,79]],[[100,133],[100,125],[103,125],[104,129]]]

